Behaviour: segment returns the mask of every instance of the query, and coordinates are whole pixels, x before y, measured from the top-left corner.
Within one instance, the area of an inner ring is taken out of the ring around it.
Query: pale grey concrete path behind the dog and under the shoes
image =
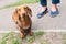
[[[32,30],[66,30],[66,0],[62,0],[62,3],[58,6],[59,14],[56,18],[51,18],[50,12],[41,19],[37,19],[36,14],[38,13],[41,6],[40,3],[29,4],[32,9]],[[14,23],[11,19],[12,11],[15,8],[0,10],[0,31],[16,31]],[[48,1],[48,9],[51,9],[51,1]],[[51,11],[51,10],[48,10]]]

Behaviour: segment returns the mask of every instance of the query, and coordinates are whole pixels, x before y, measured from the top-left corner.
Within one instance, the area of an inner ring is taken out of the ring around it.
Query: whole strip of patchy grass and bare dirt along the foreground
[[[66,44],[66,33],[37,31],[21,38],[19,33],[0,33],[0,44]]]

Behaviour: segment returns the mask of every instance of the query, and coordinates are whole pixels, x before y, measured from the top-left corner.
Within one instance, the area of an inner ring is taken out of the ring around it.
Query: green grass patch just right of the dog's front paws
[[[45,34],[45,33],[44,33],[43,31],[35,32],[35,33],[33,34],[33,36],[28,36],[28,37],[26,37],[26,42],[32,43],[34,40],[41,37],[41,36],[44,35],[44,34]]]

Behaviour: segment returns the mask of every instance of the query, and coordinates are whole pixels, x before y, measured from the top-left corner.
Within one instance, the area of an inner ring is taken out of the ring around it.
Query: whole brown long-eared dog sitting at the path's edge
[[[16,24],[16,28],[20,31],[21,37],[24,37],[26,34],[32,35],[32,11],[28,6],[18,7],[12,14],[12,19]]]

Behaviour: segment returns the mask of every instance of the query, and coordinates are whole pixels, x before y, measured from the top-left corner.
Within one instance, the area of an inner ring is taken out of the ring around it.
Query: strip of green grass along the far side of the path
[[[7,8],[12,8],[12,7],[18,7],[18,6],[22,6],[22,4],[36,3],[36,2],[38,2],[38,1],[40,1],[40,0],[20,0],[19,2],[4,6],[3,8],[0,8],[0,10],[1,10],[1,9],[7,9]]]

